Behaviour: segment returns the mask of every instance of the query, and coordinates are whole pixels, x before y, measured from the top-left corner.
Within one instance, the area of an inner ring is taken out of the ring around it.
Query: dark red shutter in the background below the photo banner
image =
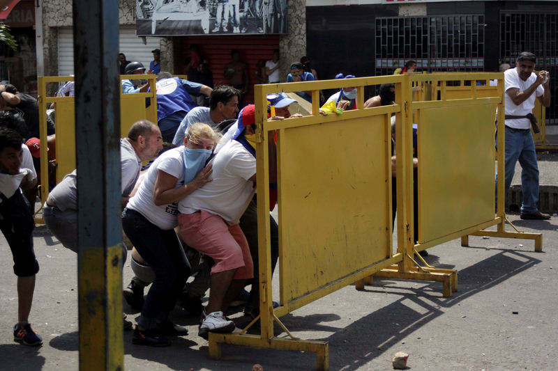
[[[198,45],[199,53],[209,61],[214,86],[228,84],[229,81],[223,77],[223,70],[225,64],[231,61],[231,50],[238,49],[241,60],[248,65],[250,77],[250,88],[244,97],[246,105],[254,102],[257,61],[260,59],[268,61],[273,58],[273,50],[279,49],[279,35],[185,36],[181,38],[181,44],[181,68],[184,68],[184,61],[190,56],[190,45]]]

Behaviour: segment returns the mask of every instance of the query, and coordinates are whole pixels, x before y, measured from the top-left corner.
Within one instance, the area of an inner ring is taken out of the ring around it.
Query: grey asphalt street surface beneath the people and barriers
[[[557,184],[556,159],[541,155],[541,184]],[[521,239],[470,237],[469,247],[456,239],[429,248],[426,258],[430,265],[458,270],[458,292],[452,297],[442,297],[441,283],[375,278],[364,291],[347,286],[282,322],[294,336],[329,342],[330,370],[391,370],[398,351],[409,354],[408,370],[555,370],[558,216],[509,218],[521,230],[542,232],[543,252]],[[40,272],[30,322],[44,343],[33,348],[13,341],[16,279],[0,235],[0,370],[77,370],[76,255],[45,226],[36,227],[34,242]],[[125,284],[131,275],[127,262]],[[126,304],[124,309],[129,319],[137,316]],[[232,318],[244,320],[241,313]],[[170,347],[132,345],[132,333],[124,333],[126,370],[250,371],[255,363],[265,371],[315,369],[312,353],[232,345],[223,346],[220,360],[212,360],[208,343],[197,336],[199,319],[179,308],[172,319],[188,326],[190,334],[174,338]]]

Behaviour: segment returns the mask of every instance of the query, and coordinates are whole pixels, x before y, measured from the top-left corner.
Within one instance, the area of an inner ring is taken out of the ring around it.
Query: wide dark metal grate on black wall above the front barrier
[[[376,18],[376,74],[413,59],[420,70],[484,70],[484,16]]]

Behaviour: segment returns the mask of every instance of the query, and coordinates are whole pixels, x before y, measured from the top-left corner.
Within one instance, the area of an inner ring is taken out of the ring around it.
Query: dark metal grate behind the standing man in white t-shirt
[[[558,13],[500,13],[500,60],[515,65],[521,52],[537,56],[536,69],[550,72],[546,123],[558,125]]]

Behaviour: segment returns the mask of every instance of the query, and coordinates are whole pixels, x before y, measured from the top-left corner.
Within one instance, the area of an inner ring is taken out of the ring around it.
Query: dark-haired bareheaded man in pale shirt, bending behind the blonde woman
[[[236,113],[239,113],[239,96],[239,90],[232,86],[223,85],[213,89],[209,95],[209,107],[195,107],[188,112],[176,129],[172,144],[182,145],[186,132],[195,123],[216,127],[221,121],[236,118]]]

